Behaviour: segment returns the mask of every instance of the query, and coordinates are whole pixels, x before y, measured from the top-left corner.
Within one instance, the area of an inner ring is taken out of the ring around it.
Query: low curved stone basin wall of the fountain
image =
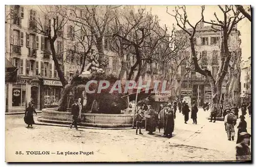
[[[57,111],[58,108],[44,108],[39,122],[54,124],[71,124],[71,112]],[[98,114],[81,113],[80,126],[99,127],[99,128],[124,128],[132,127],[134,114]]]

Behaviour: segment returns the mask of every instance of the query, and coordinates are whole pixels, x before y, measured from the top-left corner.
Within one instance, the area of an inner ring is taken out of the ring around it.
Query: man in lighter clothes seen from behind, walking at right
[[[234,115],[234,113],[231,111],[227,115],[227,139],[228,140],[234,140],[234,126],[237,124],[237,117]]]

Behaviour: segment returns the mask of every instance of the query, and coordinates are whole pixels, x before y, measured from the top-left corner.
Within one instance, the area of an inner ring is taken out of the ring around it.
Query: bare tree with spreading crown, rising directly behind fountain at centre
[[[127,80],[132,79],[134,70],[138,67],[138,73],[135,77],[135,81],[138,81],[141,76],[143,61],[152,63],[152,57],[143,55],[142,48],[143,45],[145,46],[146,40],[150,40],[150,37],[156,35],[153,32],[159,26],[158,18],[150,12],[145,12],[145,9],[140,8],[137,13],[130,10],[130,15],[121,14],[117,19],[119,19],[119,31],[114,32],[113,37],[122,39],[124,41],[124,48],[130,48],[131,53],[136,55],[136,61],[131,66]]]

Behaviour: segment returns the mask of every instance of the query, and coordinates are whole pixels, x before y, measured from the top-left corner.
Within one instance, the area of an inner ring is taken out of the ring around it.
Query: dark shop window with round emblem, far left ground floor
[[[12,106],[25,106],[26,85],[15,85],[12,88]]]

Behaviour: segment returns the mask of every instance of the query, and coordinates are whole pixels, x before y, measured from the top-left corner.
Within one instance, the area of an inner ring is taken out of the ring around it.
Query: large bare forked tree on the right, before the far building
[[[215,15],[217,21],[215,21],[215,20],[211,20],[211,22],[206,21],[204,19],[204,15],[203,15],[205,7],[202,6],[202,18],[196,22],[195,26],[193,26],[191,24],[191,22],[188,20],[185,6],[176,7],[175,14],[168,13],[168,8],[166,11],[168,14],[172,15],[176,19],[177,25],[184,32],[186,32],[189,35],[190,49],[191,49],[191,55],[192,55],[195,71],[197,73],[205,76],[206,79],[209,80],[210,86],[211,86],[211,94],[212,94],[212,103],[213,104],[219,104],[219,102],[220,102],[221,94],[222,94],[222,83],[223,83],[224,77],[227,74],[228,65],[229,65],[229,61],[231,58],[229,48],[228,48],[229,35],[232,32],[234,26],[237,25],[237,23],[244,18],[244,16],[241,16],[240,11],[236,10],[233,6],[226,5],[224,8],[222,6],[219,6],[219,8],[223,13],[224,21],[220,20],[216,13],[214,15]],[[231,16],[229,13],[231,13],[233,15]],[[220,66],[219,66],[219,70],[218,70],[218,74],[217,74],[216,78],[214,78],[214,76],[212,76],[212,73],[209,69],[207,69],[207,68],[203,69],[199,65],[199,61],[198,61],[198,58],[196,55],[194,38],[195,38],[195,34],[197,32],[197,26],[200,23],[200,21],[208,23],[211,25],[212,29],[222,32],[221,62],[220,62]],[[190,29],[186,28],[187,25],[190,27]],[[220,112],[218,113],[217,116],[221,116]]]

